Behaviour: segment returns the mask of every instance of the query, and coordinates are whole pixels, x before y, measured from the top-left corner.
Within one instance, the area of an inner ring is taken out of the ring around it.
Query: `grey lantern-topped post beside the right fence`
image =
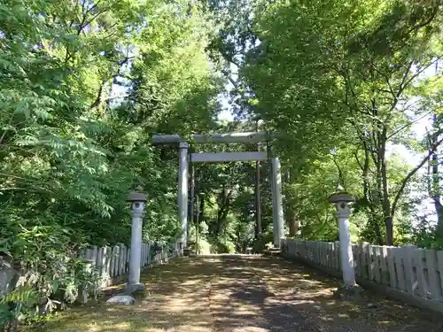
[[[350,205],[355,198],[348,194],[345,189],[338,186],[337,192],[329,198],[330,203],[336,206],[340,237],[340,261],[343,272],[343,284],[336,291],[336,295],[342,299],[361,296],[361,287],[355,282],[354,254],[349,231],[349,218],[351,217]]]

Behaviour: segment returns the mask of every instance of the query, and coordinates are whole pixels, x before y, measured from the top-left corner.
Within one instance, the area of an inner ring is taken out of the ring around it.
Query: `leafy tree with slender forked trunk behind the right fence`
[[[260,45],[249,52],[243,73],[260,115],[292,133],[292,144],[307,146],[309,154],[333,148],[328,143],[338,136],[358,140],[362,178],[375,174],[374,182],[363,182],[366,204],[373,213],[382,209],[388,244],[400,198],[431,158],[426,154],[389,188],[389,145],[401,143],[429,114],[408,91],[439,56],[440,19],[438,3],[407,1],[276,2],[256,12]]]

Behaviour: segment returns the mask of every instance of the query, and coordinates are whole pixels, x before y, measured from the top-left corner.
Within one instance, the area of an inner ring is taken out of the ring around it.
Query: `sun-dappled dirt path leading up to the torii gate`
[[[61,313],[48,332],[437,332],[437,320],[369,293],[362,304],[331,297],[338,281],[283,259],[177,259],[144,274],[150,295],[133,306],[100,302]],[[105,299],[104,299],[105,301]],[[433,320],[433,321],[432,321]],[[35,330],[35,328],[33,329]]]

